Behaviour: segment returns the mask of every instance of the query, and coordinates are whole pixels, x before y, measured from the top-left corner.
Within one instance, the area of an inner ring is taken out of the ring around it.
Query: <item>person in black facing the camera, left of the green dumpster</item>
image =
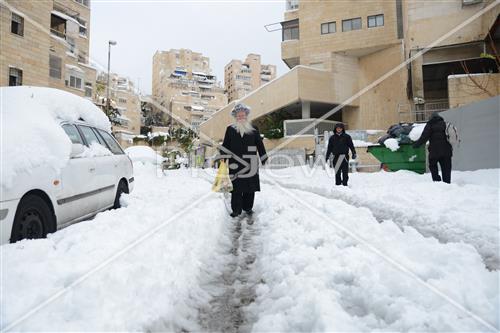
[[[356,159],[356,149],[352,143],[352,138],[345,132],[344,124],[335,125],[334,134],[328,140],[326,150],[326,161],[333,154],[333,167],[335,168],[335,185],[347,186],[349,180],[349,149],[352,152],[352,159]]]

